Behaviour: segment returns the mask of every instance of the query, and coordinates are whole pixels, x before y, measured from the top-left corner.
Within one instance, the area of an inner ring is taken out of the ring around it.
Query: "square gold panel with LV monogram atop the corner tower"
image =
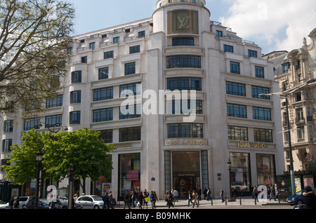
[[[169,11],[168,34],[199,34],[199,16],[197,11]]]

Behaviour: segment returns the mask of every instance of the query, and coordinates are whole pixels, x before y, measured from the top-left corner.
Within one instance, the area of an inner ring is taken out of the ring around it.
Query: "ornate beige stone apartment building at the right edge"
[[[308,36],[310,45],[304,37],[301,48],[291,52],[275,51],[264,56],[274,63],[279,92],[294,89],[288,97],[288,108],[293,166],[296,171],[306,170],[308,163],[316,158],[316,29]],[[289,137],[284,98],[281,98],[281,109],[284,158],[286,170],[289,171]]]

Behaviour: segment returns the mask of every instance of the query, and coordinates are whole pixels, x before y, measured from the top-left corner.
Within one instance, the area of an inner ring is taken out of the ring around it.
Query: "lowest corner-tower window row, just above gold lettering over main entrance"
[[[202,138],[202,123],[172,123],[168,124],[168,138]]]

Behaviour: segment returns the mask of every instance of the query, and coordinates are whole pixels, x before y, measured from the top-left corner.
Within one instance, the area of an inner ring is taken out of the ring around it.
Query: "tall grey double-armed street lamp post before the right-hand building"
[[[301,84],[300,86],[296,86],[294,88],[290,88],[289,90],[284,90],[284,92],[281,93],[270,93],[270,94],[260,94],[259,96],[266,96],[266,95],[277,95],[279,97],[285,98],[285,107],[287,110],[287,137],[289,141],[289,163],[290,163],[290,176],[291,176],[291,191],[292,194],[296,193],[296,187],[295,187],[295,180],[294,180],[294,165],[293,165],[293,155],[292,155],[292,143],[291,143],[291,131],[290,131],[290,124],[289,124],[289,95],[294,93],[296,90],[303,88],[304,86],[307,86],[310,83],[315,83],[315,79],[309,79],[306,81],[306,83]]]

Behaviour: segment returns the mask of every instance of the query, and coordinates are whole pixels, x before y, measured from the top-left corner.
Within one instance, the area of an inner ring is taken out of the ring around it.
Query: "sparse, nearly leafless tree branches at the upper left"
[[[0,1],[0,112],[38,114],[70,60],[74,8],[62,0]]]

